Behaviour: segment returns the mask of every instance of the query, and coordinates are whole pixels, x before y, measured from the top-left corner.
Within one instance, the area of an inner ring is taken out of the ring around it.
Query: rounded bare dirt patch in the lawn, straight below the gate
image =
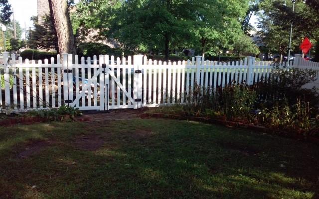
[[[104,144],[104,140],[99,135],[80,135],[75,140],[77,148],[95,151]]]

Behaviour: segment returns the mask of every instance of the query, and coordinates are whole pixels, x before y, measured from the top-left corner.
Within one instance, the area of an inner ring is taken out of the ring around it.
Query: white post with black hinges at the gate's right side
[[[142,105],[142,63],[143,55],[134,55],[134,109],[138,109]]]

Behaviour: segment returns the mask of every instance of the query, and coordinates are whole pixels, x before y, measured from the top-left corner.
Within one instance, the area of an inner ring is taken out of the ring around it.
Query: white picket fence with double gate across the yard
[[[116,60],[100,55],[93,57],[93,63],[90,57],[79,60],[77,55],[62,54],[62,58],[57,55],[42,63],[19,57],[16,62],[14,54],[9,60],[4,52],[4,64],[0,65],[2,111],[62,104],[81,110],[108,110],[184,103],[196,86],[216,89],[234,82],[254,84],[271,78],[274,70],[271,62],[255,62],[254,57],[231,63],[205,61],[201,56],[177,63],[147,60],[143,55]],[[319,78],[319,63],[297,56],[290,65],[314,69]]]

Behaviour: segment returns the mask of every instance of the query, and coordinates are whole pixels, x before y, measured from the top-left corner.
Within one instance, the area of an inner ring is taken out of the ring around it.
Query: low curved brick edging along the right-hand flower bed
[[[257,131],[257,132],[278,135],[278,136],[286,137],[286,138],[297,139],[300,141],[310,142],[310,143],[319,145],[319,138],[316,138],[313,136],[306,137],[304,135],[300,135],[297,133],[288,133],[288,132],[280,131],[280,130],[274,131],[274,129],[270,129],[270,128],[267,128],[265,126],[256,126],[256,125],[252,125],[252,124],[244,124],[241,122],[234,122],[234,121],[223,120],[223,119],[184,116],[184,115],[167,114],[167,113],[143,113],[143,114],[141,114],[141,118],[148,118],[148,117],[190,120],[190,121],[198,121],[198,122],[204,122],[204,123],[210,123],[210,124],[217,124],[217,125],[222,125],[222,126],[226,126],[226,127],[237,127],[237,128],[241,128],[241,129],[249,129],[249,130],[253,130],[253,131]]]

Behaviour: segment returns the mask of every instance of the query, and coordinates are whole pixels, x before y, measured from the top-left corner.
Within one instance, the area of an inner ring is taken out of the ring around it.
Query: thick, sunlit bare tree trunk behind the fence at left
[[[58,53],[75,55],[74,36],[67,0],[49,0],[51,21],[56,33]]]

